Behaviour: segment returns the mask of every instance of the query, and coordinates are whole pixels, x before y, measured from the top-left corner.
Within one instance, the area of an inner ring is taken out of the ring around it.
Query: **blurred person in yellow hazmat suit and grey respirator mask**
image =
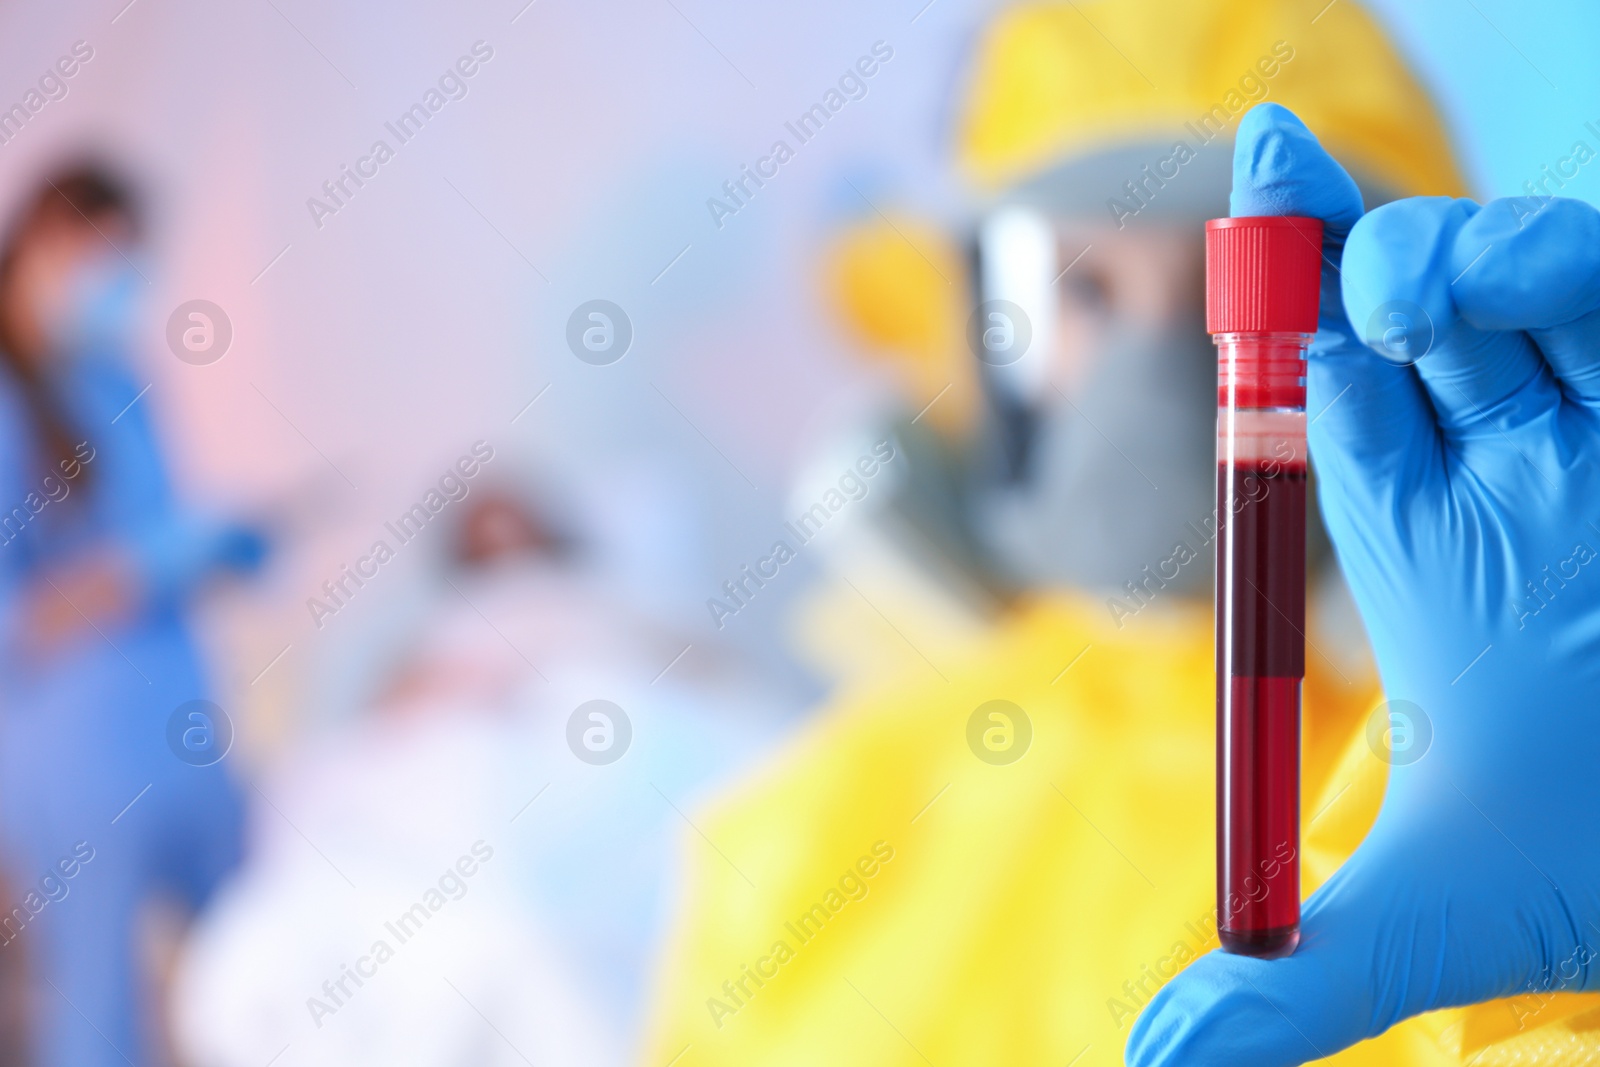
[[[904,459],[802,624],[842,696],[696,816],[730,861],[690,872],[650,1062],[1120,1064],[1141,1008],[1216,945],[1202,224],[1264,99],[1368,206],[1461,194],[1426,91],[1355,3],[1030,3],[987,27],[966,85],[973,254],[912,219],[838,242],[834,296],[904,387]],[[995,301],[1030,333],[1014,357],[974,342]],[[1318,557],[1307,893],[1387,781],[1360,619]],[[1592,1056],[1573,1013],[1530,1016],[1424,1016],[1330,1062],[1461,1064],[1531,1029]]]

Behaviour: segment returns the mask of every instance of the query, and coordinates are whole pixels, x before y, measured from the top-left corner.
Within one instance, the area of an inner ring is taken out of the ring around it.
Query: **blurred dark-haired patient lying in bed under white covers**
[[[485,485],[461,507],[389,683],[262,782],[181,965],[195,1062],[634,1062],[680,809],[781,697],[653,616],[581,506]]]

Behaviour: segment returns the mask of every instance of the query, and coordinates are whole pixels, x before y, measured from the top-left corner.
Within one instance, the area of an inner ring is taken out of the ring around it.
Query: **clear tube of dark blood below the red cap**
[[[1218,333],[1218,936],[1299,944],[1309,333]]]

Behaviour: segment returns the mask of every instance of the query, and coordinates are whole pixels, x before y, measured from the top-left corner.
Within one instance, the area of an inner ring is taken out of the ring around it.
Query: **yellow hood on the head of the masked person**
[[[1128,144],[1219,134],[1274,99],[1395,195],[1462,195],[1443,125],[1352,0],[1029,3],[978,48],[957,155],[986,189]]]

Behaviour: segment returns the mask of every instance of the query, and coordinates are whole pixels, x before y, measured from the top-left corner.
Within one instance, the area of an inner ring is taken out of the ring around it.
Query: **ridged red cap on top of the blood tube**
[[[1208,333],[1317,333],[1322,219],[1259,216],[1205,224]]]

